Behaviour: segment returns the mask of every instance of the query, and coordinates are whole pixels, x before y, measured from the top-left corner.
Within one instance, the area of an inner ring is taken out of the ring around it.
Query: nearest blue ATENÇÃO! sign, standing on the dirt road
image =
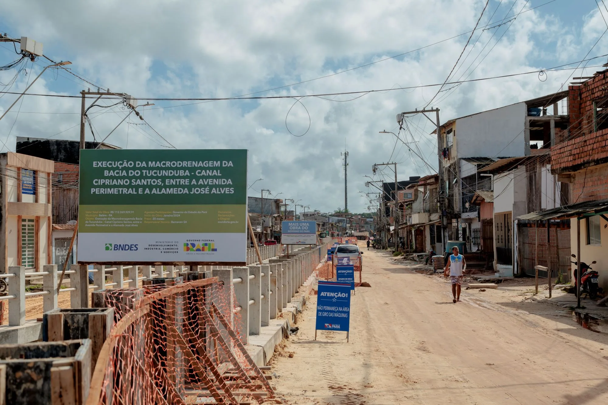
[[[349,324],[350,284],[319,281],[316,329],[348,332]]]

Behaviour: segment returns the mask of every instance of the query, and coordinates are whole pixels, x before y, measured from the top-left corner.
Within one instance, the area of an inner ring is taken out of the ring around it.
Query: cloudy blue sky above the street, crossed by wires
[[[450,81],[549,69],[580,61],[588,52],[588,57],[608,54],[604,2],[608,5],[608,0],[489,0]],[[346,148],[348,208],[364,212],[368,200],[359,192],[374,191],[365,187],[364,176],[393,178],[388,168],[372,175],[372,164],[398,162],[399,179],[429,174],[427,164],[437,167],[432,124],[420,114],[408,119],[409,131],[401,133],[402,139],[416,141],[415,153],[392,134],[378,133],[398,130],[398,112],[430,102],[445,122],[550,94],[572,75],[592,74],[606,63],[602,57],[583,62],[577,71],[540,78],[529,74],[446,85],[438,94],[438,86],[395,89],[443,83],[485,4],[21,0],[0,2],[0,31],[41,41],[47,57],[72,61],[72,71],[95,86],[131,94],[140,103],[147,97],[293,97],[154,101],[143,116],[165,140],[134,119],[106,142],[122,148],[247,148],[250,184],[263,178],[249,195],[269,189],[277,198],[300,200],[323,212],[344,207],[340,153]],[[12,44],[0,43],[0,64],[17,58]],[[28,62],[12,85],[15,69],[0,72],[0,90],[22,91],[41,66],[42,58]],[[47,70],[29,92],[78,95],[86,88],[96,90],[67,72]],[[370,90],[387,91],[299,97]],[[16,97],[0,96],[2,110]],[[91,111],[97,139],[126,115],[121,106]],[[16,136],[78,139],[79,114],[79,99],[24,97],[0,121],[1,151],[14,151]],[[93,139],[89,129],[86,137]]]

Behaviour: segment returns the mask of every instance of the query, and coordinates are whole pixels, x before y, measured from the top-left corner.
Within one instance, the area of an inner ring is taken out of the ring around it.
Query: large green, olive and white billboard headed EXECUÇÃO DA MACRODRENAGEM
[[[78,262],[242,264],[247,150],[81,150]]]

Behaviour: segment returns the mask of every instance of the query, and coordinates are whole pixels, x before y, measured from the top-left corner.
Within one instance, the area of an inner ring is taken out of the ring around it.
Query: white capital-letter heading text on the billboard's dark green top
[[[232,194],[223,168],[232,161],[94,161],[92,195],[107,194]]]

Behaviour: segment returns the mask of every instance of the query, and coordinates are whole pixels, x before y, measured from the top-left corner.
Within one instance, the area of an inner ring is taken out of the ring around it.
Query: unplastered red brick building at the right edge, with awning
[[[551,145],[551,173],[567,189],[562,204],[528,215],[554,226],[570,218],[570,251],[597,261],[599,286],[608,290],[608,69],[568,87],[568,131]]]

